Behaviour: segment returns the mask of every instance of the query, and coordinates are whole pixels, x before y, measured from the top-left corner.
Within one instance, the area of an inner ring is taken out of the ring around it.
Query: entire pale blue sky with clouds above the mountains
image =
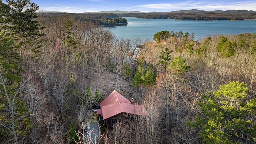
[[[5,0],[2,0],[3,2]],[[110,10],[170,12],[174,10],[254,10],[256,0],[30,0],[40,10],[99,12]]]

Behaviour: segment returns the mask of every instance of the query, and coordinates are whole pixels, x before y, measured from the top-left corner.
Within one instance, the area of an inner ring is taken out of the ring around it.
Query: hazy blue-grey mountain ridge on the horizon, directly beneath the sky
[[[205,10],[177,10],[177,11],[171,11],[171,12],[139,12],[139,11],[122,11],[122,10],[114,10],[114,11],[101,11],[101,12],[84,12],[84,13],[113,13],[113,14],[168,14],[168,13],[194,13],[194,14],[207,14],[207,13],[219,13],[219,14],[250,14],[250,13],[256,13],[252,10],[214,10],[214,11],[205,11]]]

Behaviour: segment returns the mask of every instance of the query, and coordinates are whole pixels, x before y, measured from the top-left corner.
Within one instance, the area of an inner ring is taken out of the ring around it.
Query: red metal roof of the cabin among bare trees
[[[116,90],[114,90],[107,98],[105,98],[105,100],[100,103],[100,108],[102,110],[104,120],[115,116],[116,114],[120,114],[121,112],[144,116],[148,115],[144,106],[131,104],[128,99],[126,99]]]

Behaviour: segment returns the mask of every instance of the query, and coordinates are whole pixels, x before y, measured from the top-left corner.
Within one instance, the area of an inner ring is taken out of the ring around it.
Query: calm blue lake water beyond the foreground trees
[[[154,34],[160,31],[169,32],[182,31],[184,34],[194,33],[195,40],[202,40],[206,36],[214,34],[244,34],[256,33],[256,20],[242,21],[194,21],[194,20],[173,20],[173,19],[141,19],[125,17],[127,26],[110,27],[110,30],[118,38],[141,38],[143,41],[153,40]]]

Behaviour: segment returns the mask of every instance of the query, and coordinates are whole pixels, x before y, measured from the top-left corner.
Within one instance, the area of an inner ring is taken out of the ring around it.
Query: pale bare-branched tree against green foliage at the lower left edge
[[[7,81],[0,72],[0,126],[7,138],[4,141],[18,144],[24,138],[26,127],[31,127],[27,117],[27,107],[21,98],[26,92],[23,89],[26,82],[21,81],[20,84],[9,85]]]

